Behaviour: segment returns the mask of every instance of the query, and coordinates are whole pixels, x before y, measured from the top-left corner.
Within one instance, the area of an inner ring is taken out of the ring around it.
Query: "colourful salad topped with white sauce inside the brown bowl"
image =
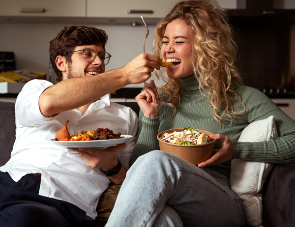
[[[181,132],[164,133],[161,135],[160,140],[180,145],[198,145],[213,141],[205,133],[190,127],[185,127]]]

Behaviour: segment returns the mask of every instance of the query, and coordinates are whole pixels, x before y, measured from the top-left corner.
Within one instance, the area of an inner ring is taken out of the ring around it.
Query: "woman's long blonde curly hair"
[[[160,56],[162,37],[167,24],[177,18],[183,19],[191,27],[195,37],[192,63],[201,94],[207,97],[207,104],[213,107],[213,117],[218,122],[229,120],[231,125],[235,115],[243,114],[246,107],[235,91],[236,86],[241,84],[240,75],[234,65],[237,45],[225,9],[222,9],[216,1],[178,2],[157,25],[153,54]],[[159,93],[161,99],[174,104],[173,109],[176,114],[176,106],[180,103],[181,84],[178,79],[170,79],[167,75],[164,77],[164,71],[165,69],[160,71],[160,76],[167,83],[159,87]],[[159,79],[156,71],[155,74]],[[243,105],[243,111],[235,111],[236,101]]]

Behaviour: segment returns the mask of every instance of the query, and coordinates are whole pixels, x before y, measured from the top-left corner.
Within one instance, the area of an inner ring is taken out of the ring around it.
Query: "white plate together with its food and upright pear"
[[[81,131],[78,134],[70,135],[66,124],[57,132],[56,138],[50,142],[64,147],[109,147],[129,142],[133,136],[117,134],[108,128],[97,128],[96,130]]]

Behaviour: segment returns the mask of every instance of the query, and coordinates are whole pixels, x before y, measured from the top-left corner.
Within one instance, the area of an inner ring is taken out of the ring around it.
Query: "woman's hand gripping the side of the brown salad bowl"
[[[198,167],[206,167],[214,164],[232,160],[235,154],[235,143],[232,139],[221,134],[210,135],[210,138],[221,141],[221,147],[216,153],[207,161],[202,162]]]

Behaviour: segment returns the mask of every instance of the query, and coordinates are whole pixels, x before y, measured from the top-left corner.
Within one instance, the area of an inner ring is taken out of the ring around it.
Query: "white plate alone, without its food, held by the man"
[[[50,142],[53,142],[59,146],[65,147],[109,147],[116,146],[120,143],[129,142],[133,136],[130,135],[121,135],[121,137],[125,137],[122,139],[114,139],[114,140],[102,140],[102,141],[55,141],[55,139],[51,139]]]

